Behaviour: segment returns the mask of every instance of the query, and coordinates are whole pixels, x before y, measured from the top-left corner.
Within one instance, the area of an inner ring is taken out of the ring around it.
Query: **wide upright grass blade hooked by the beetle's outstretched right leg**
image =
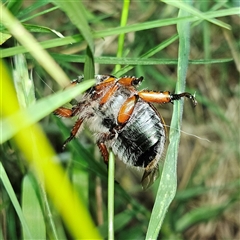
[[[191,1],[185,1],[191,3]],[[188,15],[182,10],[179,16]],[[179,22],[177,25],[179,34],[179,63],[178,63],[178,82],[176,92],[183,90],[185,86],[186,71],[189,55],[189,22]],[[180,122],[182,117],[182,103],[175,102],[173,107],[173,116],[169,133],[169,147],[167,150],[166,160],[163,167],[160,185],[158,188],[155,204],[153,207],[146,239],[157,239],[161,229],[166,212],[176,194],[177,189],[177,155],[180,140]]]

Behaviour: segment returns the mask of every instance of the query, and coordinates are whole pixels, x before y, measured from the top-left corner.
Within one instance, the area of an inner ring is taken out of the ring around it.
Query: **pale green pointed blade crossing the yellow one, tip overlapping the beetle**
[[[58,92],[49,97],[45,97],[41,100],[38,100],[36,104],[31,105],[26,109],[16,111],[13,115],[2,118],[0,120],[0,123],[2,124],[2,136],[0,143],[8,140],[24,127],[30,126],[31,124],[41,120],[43,117],[51,114],[58,107],[64,105],[78,96],[80,93],[86,91],[94,83],[95,80],[84,81],[74,88],[69,88],[63,92]],[[23,118],[25,121],[21,120]],[[15,124],[16,122],[18,122],[18,124]]]

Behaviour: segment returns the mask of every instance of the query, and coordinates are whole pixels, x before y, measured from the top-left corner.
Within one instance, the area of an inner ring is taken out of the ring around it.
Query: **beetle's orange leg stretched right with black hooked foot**
[[[192,100],[192,103],[194,106],[197,105],[197,101],[195,97],[187,92],[184,93],[170,93],[168,91],[165,92],[155,92],[155,91],[148,91],[148,90],[142,90],[138,93],[139,97],[142,98],[146,102],[151,103],[173,103],[175,100],[179,100],[182,97],[187,97]]]

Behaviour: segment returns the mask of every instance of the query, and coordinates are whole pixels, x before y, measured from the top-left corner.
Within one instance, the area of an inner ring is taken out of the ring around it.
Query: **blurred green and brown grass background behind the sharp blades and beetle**
[[[60,38],[52,31],[65,37],[79,34],[64,9],[61,10],[47,1],[3,3],[8,4],[14,16],[25,24],[39,42],[45,44],[49,54],[70,79],[83,74],[86,41],[76,37],[74,42],[62,42],[59,46]],[[174,92],[179,42],[176,24],[168,23],[167,19],[177,18],[178,8],[159,1],[131,1],[127,25],[142,23],[146,24],[146,29],[126,33],[123,56],[116,58],[119,51],[118,32],[113,33],[112,30],[117,30],[120,25],[122,1],[84,1],[83,5],[85,10],[82,14],[95,36],[96,74],[114,74],[116,64],[121,63],[122,67],[130,64],[132,68],[124,72],[124,75],[144,76],[140,89]],[[186,90],[196,92],[198,105],[193,109],[190,101],[186,100],[184,104],[178,154],[178,189],[159,239],[240,239],[240,19],[239,15],[230,11],[236,10],[239,2],[193,1],[193,7],[198,11],[211,11],[216,14],[222,10],[226,13],[229,11],[226,15],[219,14],[221,17],[217,19],[228,24],[231,30],[208,21],[191,23]],[[150,22],[155,20],[163,20],[166,26],[153,27]],[[166,46],[145,62],[140,59],[143,54],[164,42]],[[17,42],[14,38],[2,42],[1,46],[2,57],[10,71],[14,71],[15,85],[17,78],[30,78],[34,83],[36,100],[62,89],[29,53],[24,54],[25,60],[19,57],[15,46]],[[24,66],[20,66],[21,63]],[[21,69],[26,70],[26,76],[20,73]],[[155,106],[169,126],[172,105]],[[62,152],[62,143],[68,137],[74,120],[62,121],[48,115],[40,124],[58,153],[62,166],[89,207],[94,222],[101,226],[99,229],[102,236],[106,237],[107,171],[92,134],[85,129],[81,136]],[[1,162],[21,202],[24,195],[22,180],[31,169],[13,141],[1,145]],[[143,191],[141,175],[141,172],[126,167],[116,159],[115,178],[119,183],[115,193],[116,239],[145,237],[158,182]],[[31,175],[31,179],[35,179],[34,175]],[[2,182],[0,191],[0,237],[19,238],[21,224]],[[39,191],[36,190],[37,193]],[[50,208],[59,239],[71,239],[51,203]],[[48,219],[47,212],[43,212],[44,218]],[[54,235],[49,221],[45,222],[45,228],[47,236]]]

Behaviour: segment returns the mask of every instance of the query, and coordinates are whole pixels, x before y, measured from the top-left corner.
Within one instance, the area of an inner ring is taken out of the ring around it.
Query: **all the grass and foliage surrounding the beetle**
[[[239,7],[230,1],[2,2],[0,51],[13,80],[1,75],[0,238],[72,239],[80,225],[81,233],[94,234],[86,211],[102,238],[114,229],[116,239],[236,239]],[[171,106],[156,106],[167,126],[171,121],[170,144],[161,181],[151,189],[142,191],[141,173],[116,159],[119,184],[108,192],[107,170],[87,129],[60,150],[69,122],[51,112],[94,81],[55,91],[83,73],[144,76],[142,88],[196,92],[195,109],[190,101],[174,103],[173,114]],[[12,83],[14,91],[5,87]],[[56,153],[47,155],[37,122]]]

